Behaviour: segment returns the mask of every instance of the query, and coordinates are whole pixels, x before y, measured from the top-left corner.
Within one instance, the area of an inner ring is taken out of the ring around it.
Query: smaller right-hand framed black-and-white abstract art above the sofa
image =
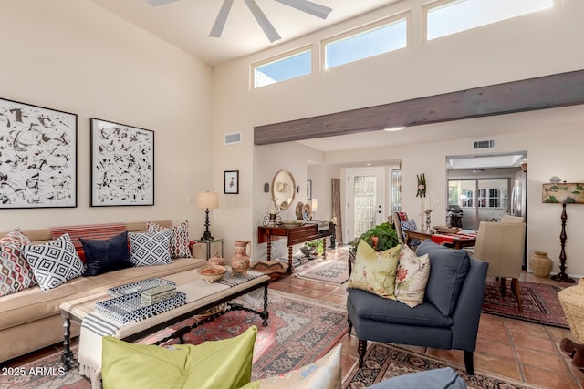
[[[91,206],[154,205],[154,131],[91,118]]]

